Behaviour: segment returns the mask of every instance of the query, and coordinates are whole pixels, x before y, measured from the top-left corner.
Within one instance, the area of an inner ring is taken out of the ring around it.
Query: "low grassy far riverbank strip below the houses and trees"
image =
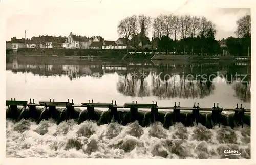
[[[173,60],[173,61],[184,61],[184,62],[250,62],[250,56],[201,56],[201,55],[167,55],[158,54],[157,50],[145,50],[144,54],[141,50],[107,50],[107,49],[32,49],[32,48],[22,48],[18,50],[6,50],[6,60],[9,61],[13,56],[23,56],[23,57],[36,57],[36,58],[58,58],[58,59],[72,59],[72,60],[82,60],[82,59],[95,59],[95,60]]]

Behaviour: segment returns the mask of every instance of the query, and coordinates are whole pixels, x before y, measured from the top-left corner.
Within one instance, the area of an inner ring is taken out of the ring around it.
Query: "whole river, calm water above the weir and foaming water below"
[[[14,59],[6,63],[8,100],[68,101],[75,104],[152,103],[158,106],[250,109],[250,64],[125,61],[33,61]],[[240,74],[237,79],[235,74]],[[191,76],[193,80],[189,79]],[[199,78],[195,79],[196,75]],[[200,76],[199,76],[200,75]],[[202,75],[206,81],[200,82]],[[243,77],[245,77],[243,79]],[[243,79],[243,81],[241,81]],[[161,123],[141,127],[118,123],[97,126],[92,121],[6,120],[7,157],[66,158],[250,158],[250,127],[181,123],[164,129]],[[240,155],[225,157],[224,150]]]

